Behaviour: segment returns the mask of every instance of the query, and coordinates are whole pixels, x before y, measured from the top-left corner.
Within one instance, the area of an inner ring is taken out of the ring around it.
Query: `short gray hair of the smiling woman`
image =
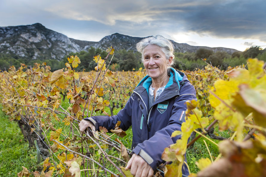
[[[166,59],[169,59],[170,57],[173,57],[172,63],[170,63],[170,66],[172,66],[175,62],[174,58],[174,47],[171,41],[166,39],[165,37],[161,35],[156,35],[156,36],[150,36],[147,38],[142,39],[140,42],[136,44],[137,51],[142,54],[141,56],[141,61],[143,62],[144,56],[143,56],[143,50],[144,48],[149,45],[157,45],[162,48],[163,53],[166,56]]]

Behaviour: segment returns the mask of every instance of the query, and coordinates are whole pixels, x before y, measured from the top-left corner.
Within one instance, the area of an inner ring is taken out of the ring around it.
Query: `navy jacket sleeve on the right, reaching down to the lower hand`
[[[163,163],[161,156],[164,148],[168,147],[170,144],[174,144],[176,140],[180,138],[180,136],[171,138],[171,135],[175,130],[181,131],[181,124],[185,121],[185,101],[197,100],[195,88],[190,83],[181,87],[179,95],[180,96],[175,98],[175,103],[172,107],[172,114],[167,126],[158,130],[154,136],[138,144],[133,149],[133,152],[140,155],[153,170]]]

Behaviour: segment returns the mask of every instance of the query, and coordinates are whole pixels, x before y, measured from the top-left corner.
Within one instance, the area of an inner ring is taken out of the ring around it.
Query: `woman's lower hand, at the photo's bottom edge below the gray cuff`
[[[127,169],[135,177],[152,177],[152,167],[139,155],[133,154],[129,160]]]

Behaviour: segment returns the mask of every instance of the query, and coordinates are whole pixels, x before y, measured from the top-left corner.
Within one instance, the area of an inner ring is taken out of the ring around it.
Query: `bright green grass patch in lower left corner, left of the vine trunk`
[[[16,121],[10,121],[0,107],[0,176],[14,177],[22,171],[36,171],[36,150],[29,149]]]

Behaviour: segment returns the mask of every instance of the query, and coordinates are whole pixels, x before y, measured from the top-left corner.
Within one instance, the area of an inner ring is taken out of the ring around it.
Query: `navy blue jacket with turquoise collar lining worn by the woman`
[[[145,76],[127,101],[124,109],[115,116],[93,116],[86,118],[94,123],[96,130],[100,126],[114,129],[117,121],[120,128],[127,130],[132,125],[132,149],[140,155],[153,170],[163,160],[164,148],[176,142],[178,137],[171,138],[175,130],[181,131],[185,121],[186,101],[196,100],[196,91],[185,74],[170,68],[170,79],[165,89],[149,109],[149,86],[152,78]],[[189,175],[184,165],[183,174]]]

